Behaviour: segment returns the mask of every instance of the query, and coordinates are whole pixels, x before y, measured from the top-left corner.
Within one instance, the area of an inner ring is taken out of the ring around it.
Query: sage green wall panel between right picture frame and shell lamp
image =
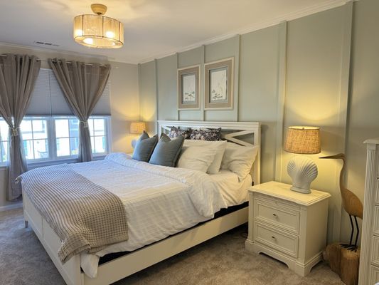
[[[279,26],[241,36],[238,120],[262,122],[261,179],[274,180]]]

